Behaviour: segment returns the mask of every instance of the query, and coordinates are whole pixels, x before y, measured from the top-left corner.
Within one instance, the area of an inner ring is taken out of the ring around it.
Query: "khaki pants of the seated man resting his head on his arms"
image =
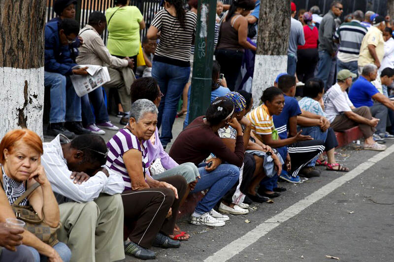
[[[58,239],[71,249],[72,262],[109,262],[125,258],[123,203],[119,194],[100,194],[87,203],[59,205]]]

